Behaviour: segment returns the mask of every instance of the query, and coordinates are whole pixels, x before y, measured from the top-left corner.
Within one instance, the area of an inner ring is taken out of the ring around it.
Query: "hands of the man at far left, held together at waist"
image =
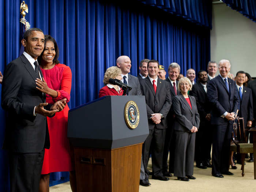
[[[48,105],[48,103],[40,103],[38,106],[36,106],[35,113],[38,113],[47,117],[53,116],[56,112],[62,111],[65,108],[65,106],[67,105],[66,101],[67,101],[66,98],[60,101],[57,101],[51,106],[50,110],[44,109],[44,106]]]

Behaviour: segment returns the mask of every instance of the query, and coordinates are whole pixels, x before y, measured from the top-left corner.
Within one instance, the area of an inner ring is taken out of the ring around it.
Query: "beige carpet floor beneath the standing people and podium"
[[[149,165],[151,166],[151,165]],[[149,167],[150,168],[150,167]],[[177,177],[170,177],[169,181],[153,180],[150,177],[149,187],[140,186],[139,192],[256,192],[256,180],[253,176],[253,163],[246,161],[245,176],[241,175],[241,165],[236,170],[230,169],[233,176],[217,178],[211,176],[211,168],[199,169],[194,167],[196,180],[178,181]],[[50,192],[71,192],[69,182],[50,187]]]

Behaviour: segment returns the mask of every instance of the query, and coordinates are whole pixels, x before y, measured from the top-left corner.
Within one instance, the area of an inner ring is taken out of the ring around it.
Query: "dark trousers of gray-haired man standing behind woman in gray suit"
[[[168,172],[168,154],[170,152],[169,157],[169,173],[173,173],[174,166],[174,150],[175,150],[175,135],[173,134],[173,129],[167,128],[165,134],[165,145],[163,147],[163,173]]]

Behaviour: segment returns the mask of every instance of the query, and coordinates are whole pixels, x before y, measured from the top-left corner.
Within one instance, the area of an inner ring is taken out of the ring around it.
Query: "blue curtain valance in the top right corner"
[[[256,1],[255,0],[222,0],[233,10],[236,10],[247,18],[256,22]]]

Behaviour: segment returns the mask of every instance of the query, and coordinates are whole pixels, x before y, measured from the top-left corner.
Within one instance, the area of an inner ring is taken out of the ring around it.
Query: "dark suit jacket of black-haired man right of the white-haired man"
[[[236,87],[237,88],[237,87]],[[237,94],[239,91],[237,89]],[[244,117],[244,125],[246,127],[247,121],[253,121],[253,101],[252,101],[252,90],[248,87],[243,86],[243,96],[240,101],[240,110],[238,112],[239,117]]]

